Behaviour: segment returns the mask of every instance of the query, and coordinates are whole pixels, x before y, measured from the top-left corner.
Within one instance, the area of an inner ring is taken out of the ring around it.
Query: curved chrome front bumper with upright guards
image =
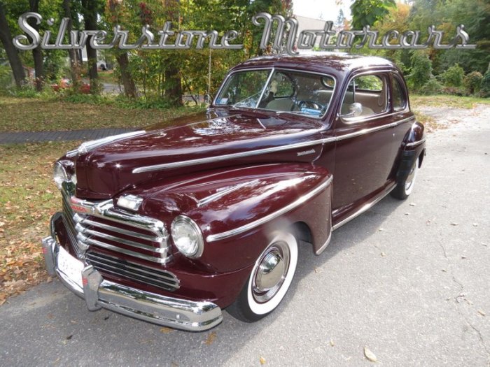
[[[57,275],[71,292],[84,298],[89,310],[106,308],[154,324],[188,331],[211,329],[223,320],[221,308],[214,303],[161,296],[119,285],[102,279],[102,275],[90,265],[83,268],[80,287],[75,279],[58,267],[60,245],[54,230],[55,216],[51,219],[51,236],[42,241],[46,268],[50,275]]]

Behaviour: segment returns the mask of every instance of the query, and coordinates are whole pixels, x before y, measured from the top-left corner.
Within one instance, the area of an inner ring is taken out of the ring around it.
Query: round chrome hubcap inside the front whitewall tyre
[[[274,243],[258,260],[253,273],[252,294],[255,301],[269,301],[281,288],[289,268],[289,247],[286,243]]]

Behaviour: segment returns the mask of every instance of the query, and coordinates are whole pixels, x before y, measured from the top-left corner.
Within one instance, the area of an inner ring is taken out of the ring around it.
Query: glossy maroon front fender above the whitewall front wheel
[[[269,233],[297,222],[309,227],[318,252],[330,236],[331,178],[325,168],[304,163],[222,168],[147,190],[141,210],[167,228],[181,214],[200,226],[202,257],[181,261],[237,271],[255,262]]]

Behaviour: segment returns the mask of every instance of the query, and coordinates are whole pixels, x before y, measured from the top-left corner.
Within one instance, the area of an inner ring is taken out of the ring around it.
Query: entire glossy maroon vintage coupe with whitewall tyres
[[[206,113],[59,159],[45,263],[89,310],[193,331],[224,308],[255,321],[288,291],[300,243],[320,254],[389,192],[405,199],[424,154],[391,62],[251,59]]]

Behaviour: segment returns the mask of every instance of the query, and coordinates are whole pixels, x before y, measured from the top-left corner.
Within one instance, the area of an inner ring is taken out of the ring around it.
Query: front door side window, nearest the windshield
[[[347,87],[341,115],[360,118],[384,113],[388,107],[387,85],[383,74],[356,76]]]

